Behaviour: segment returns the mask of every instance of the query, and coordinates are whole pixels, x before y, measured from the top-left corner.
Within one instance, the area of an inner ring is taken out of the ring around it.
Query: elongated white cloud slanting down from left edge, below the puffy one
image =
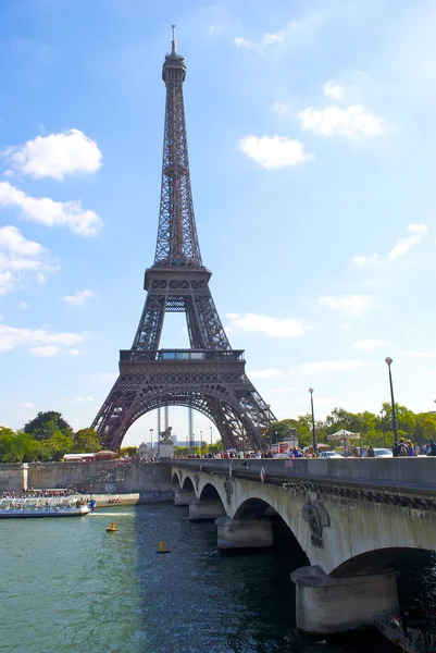
[[[23,218],[47,226],[65,225],[80,236],[95,236],[103,221],[95,211],[84,210],[79,200],[54,201],[49,197],[32,197],[9,182],[0,182],[0,207],[16,207]]]

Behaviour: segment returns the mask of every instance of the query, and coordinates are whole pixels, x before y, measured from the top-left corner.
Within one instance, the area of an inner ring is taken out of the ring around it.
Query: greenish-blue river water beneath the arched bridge
[[[114,520],[116,533],[105,528]],[[13,653],[344,653],[295,630],[286,546],[222,554],[213,522],[172,504],[0,522],[0,650]],[[169,555],[157,555],[163,540]]]

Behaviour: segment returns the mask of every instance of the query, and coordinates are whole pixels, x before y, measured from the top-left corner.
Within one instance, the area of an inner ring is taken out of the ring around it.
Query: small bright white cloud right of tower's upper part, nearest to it
[[[303,151],[303,144],[285,136],[246,136],[239,148],[261,168],[286,168],[313,159]]]

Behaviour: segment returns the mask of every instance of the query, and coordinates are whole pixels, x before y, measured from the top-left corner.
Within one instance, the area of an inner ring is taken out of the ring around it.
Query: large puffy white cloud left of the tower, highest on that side
[[[7,171],[9,173],[58,181],[62,181],[65,174],[96,172],[101,167],[102,157],[97,143],[79,130],[37,136],[24,145],[9,147],[3,153],[11,167]]]

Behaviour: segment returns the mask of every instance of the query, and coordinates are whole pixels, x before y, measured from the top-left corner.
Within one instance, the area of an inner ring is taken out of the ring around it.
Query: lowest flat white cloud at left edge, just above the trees
[[[73,345],[82,343],[86,333],[50,333],[47,329],[17,329],[0,323],[0,352],[9,352],[15,347],[28,347],[35,356],[54,356],[54,354],[73,355]]]

